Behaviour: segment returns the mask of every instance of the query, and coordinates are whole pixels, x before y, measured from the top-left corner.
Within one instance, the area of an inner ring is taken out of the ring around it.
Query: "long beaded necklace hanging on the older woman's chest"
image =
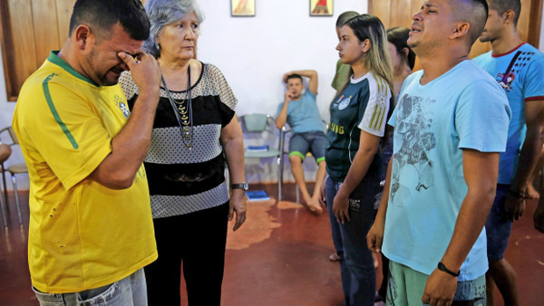
[[[183,101],[178,102],[172,98],[168,86],[166,86],[166,81],[164,81],[162,75],[160,76],[160,80],[162,81],[162,85],[164,86],[164,90],[168,96],[168,100],[170,100],[170,105],[174,110],[174,115],[176,116],[178,124],[180,125],[181,140],[183,141],[185,148],[191,149],[193,143],[193,120],[192,99],[190,97],[190,66],[187,67],[187,75],[187,107],[183,106]],[[180,104],[180,106],[178,106],[178,104]]]

